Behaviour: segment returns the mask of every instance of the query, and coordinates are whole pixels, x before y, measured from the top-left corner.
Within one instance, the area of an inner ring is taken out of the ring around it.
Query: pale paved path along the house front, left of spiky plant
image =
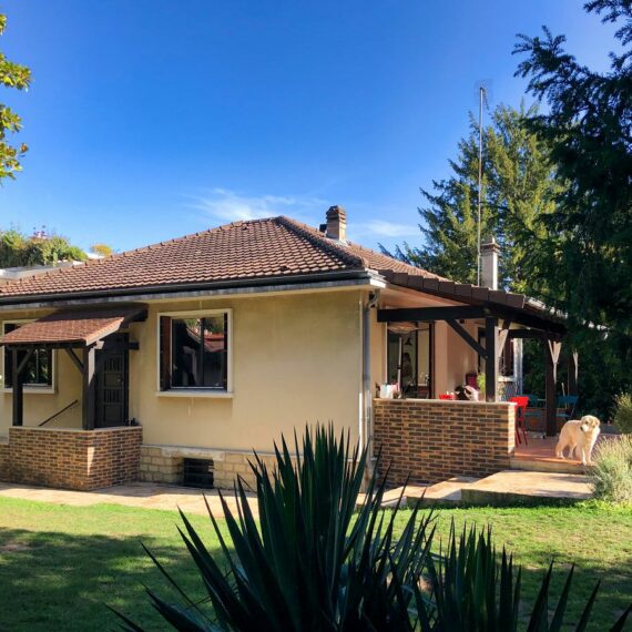
[[[222,516],[222,506],[216,490],[197,490],[150,482],[133,482],[93,491],[70,491],[0,482],[0,497],[4,498],[39,500],[42,502],[71,504],[74,507],[108,503],[169,511],[177,510],[180,507],[185,513],[197,513],[201,516],[207,514],[204,495],[208,500],[213,513],[215,516]],[[235,514],[236,503],[233,492],[227,492],[226,499],[231,511]],[[257,503],[254,495],[248,495],[248,503],[256,514]]]

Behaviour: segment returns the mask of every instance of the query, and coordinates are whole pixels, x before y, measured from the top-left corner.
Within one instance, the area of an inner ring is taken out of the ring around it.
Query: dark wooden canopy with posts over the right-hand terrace
[[[546,361],[547,395],[547,434],[555,435],[557,398],[555,378],[560,357],[561,340],[567,333],[564,317],[548,308],[542,303],[522,294],[488,289],[470,284],[453,283],[420,275],[379,271],[393,285],[416,289],[425,294],[459,302],[462,305],[449,307],[412,307],[378,309],[379,323],[435,322],[444,320],[476,353],[486,360],[486,400],[498,398],[498,365],[504,343],[511,338],[537,338],[541,340]],[[485,322],[486,346],[462,327],[462,320],[482,319]],[[511,328],[511,326],[514,328]],[[516,327],[518,326],[518,327]],[[577,353],[570,355],[569,381],[577,393]]]

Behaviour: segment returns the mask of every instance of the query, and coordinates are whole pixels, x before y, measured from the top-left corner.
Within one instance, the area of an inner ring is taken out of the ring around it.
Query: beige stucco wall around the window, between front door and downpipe
[[[157,316],[232,309],[232,397],[157,391]],[[152,304],[133,324],[130,416],[145,444],[271,450],[284,432],[333,421],[357,440],[361,393],[360,290]]]

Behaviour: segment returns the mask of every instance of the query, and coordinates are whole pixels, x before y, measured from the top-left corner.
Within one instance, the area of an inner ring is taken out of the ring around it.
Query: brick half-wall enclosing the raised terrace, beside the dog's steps
[[[510,404],[374,400],[376,452],[383,472],[402,485],[439,482],[455,476],[483,477],[508,469],[514,449],[514,410]]]

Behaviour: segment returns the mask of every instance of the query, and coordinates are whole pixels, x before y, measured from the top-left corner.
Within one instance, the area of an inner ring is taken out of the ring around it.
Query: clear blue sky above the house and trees
[[[605,68],[577,0],[4,0],[28,64],[24,171],[1,227],[122,251],[236,218],[347,210],[367,246],[419,243],[419,186],[448,174],[477,106],[517,105],[516,33],[565,33]]]

